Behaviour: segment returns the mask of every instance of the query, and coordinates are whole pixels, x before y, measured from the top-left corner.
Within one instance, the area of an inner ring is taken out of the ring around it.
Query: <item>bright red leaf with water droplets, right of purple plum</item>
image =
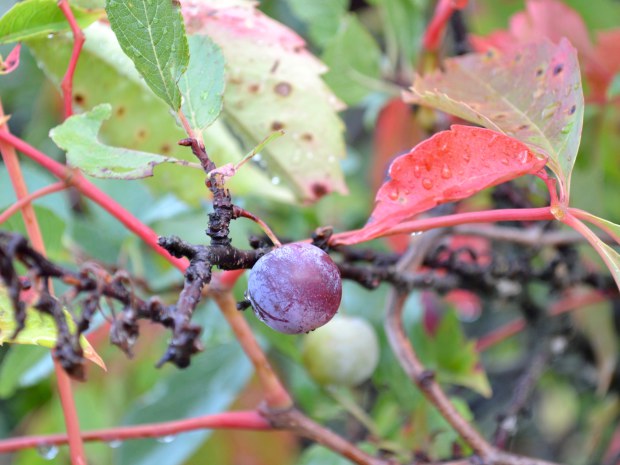
[[[418,213],[537,173],[545,163],[516,139],[490,129],[454,125],[394,160],[391,179],[379,189],[369,223],[346,242],[374,239]]]

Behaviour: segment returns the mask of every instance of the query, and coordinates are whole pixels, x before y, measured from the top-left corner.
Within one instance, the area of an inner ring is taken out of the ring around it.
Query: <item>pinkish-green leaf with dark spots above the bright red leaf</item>
[[[505,53],[468,54],[417,77],[410,102],[454,114],[526,143],[548,157],[568,195],[583,125],[577,53],[563,39]]]

